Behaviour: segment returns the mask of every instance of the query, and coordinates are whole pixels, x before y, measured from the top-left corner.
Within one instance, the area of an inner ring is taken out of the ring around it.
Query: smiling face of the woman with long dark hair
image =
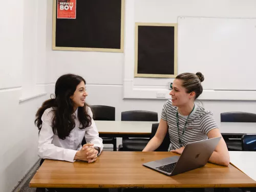
[[[78,106],[84,106],[84,102],[87,96],[88,94],[86,92],[86,84],[81,81],[76,87],[74,94],[70,96],[74,104],[74,109],[77,109]]]

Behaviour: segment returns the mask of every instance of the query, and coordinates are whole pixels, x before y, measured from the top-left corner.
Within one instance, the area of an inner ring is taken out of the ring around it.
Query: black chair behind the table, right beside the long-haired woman
[[[93,112],[93,119],[95,121],[115,121],[115,111],[113,106],[106,105],[91,105]],[[103,144],[113,144],[113,151],[117,151],[116,138],[115,137],[101,137]],[[82,145],[86,144],[86,140],[83,139]]]

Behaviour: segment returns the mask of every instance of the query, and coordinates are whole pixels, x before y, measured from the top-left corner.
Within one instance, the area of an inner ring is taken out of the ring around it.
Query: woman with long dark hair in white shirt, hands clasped
[[[82,77],[66,74],[57,79],[55,97],[42,103],[36,113],[42,159],[96,161],[103,144],[85,102],[87,95]],[[84,137],[87,144],[81,146]]]

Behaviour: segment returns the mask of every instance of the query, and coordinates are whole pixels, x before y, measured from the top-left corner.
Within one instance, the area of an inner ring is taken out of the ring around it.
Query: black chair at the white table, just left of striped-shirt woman
[[[121,121],[158,121],[158,114],[151,111],[125,111],[121,113]],[[150,139],[122,138],[118,151],[142,151]]]

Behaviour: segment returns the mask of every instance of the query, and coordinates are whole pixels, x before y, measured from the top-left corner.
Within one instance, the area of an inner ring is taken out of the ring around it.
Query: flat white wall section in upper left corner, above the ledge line
[[[5,6],[1,10],[5,17],[0,28],[0,89],[22,86],[22,66],[15,63],[23,59],[23,1],[6,1]]]

